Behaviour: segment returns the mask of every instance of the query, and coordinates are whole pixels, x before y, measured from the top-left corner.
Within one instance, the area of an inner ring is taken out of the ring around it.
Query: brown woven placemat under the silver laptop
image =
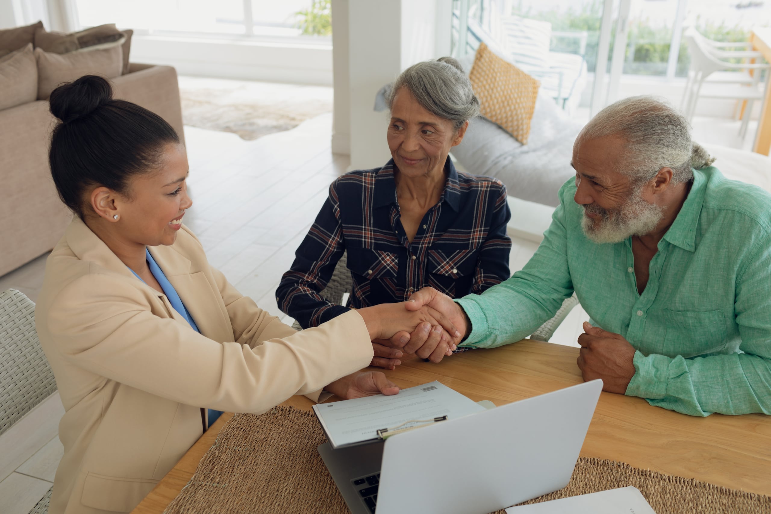
[[[348,514],[318,455],[316,447],[324,442],[324,432],[310,411],[277,407],[259,416],[235,415],[164,514]],[[527,503],[627,485],[640,489],[657,514],[771,512],[769,496],[583,457],[567,487]]]

